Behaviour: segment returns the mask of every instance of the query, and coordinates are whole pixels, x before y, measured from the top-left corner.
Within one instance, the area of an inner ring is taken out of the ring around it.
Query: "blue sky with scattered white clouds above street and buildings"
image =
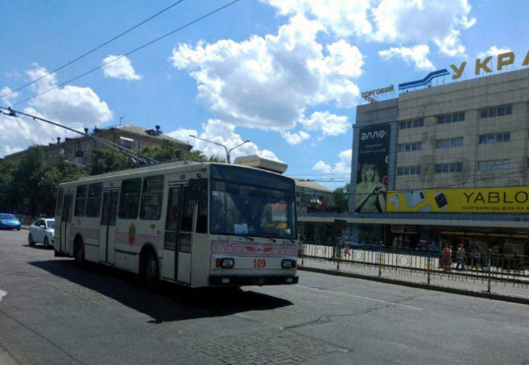
[[[362,93],[393,85],[371,95],[393,99],[435,70],[449,75],[432,86],[528,67],[525,0],[3,0],[0,13],[0,107],[80,131],[159,125],[221,158],[190,135],[249,140],[232,161],[280,160],[330,189],[350,180]],[[0,115],[0,157],[66,136]]]

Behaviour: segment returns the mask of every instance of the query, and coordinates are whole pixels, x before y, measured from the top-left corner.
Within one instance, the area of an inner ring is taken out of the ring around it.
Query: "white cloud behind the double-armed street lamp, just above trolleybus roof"
[[[173,138],[178,138],[180,141],[186,141],[193,146],[193,148],[202,151],[206,156],[218,156],[224,160],[227,159],[227,150],[229,151],[231,148],[240,145],[229,153],[231,162],[233,162],[237,156],[249,155],[258,155],[271,160],[279,160],[272,151],[261,150],[253,142],[244,143],[241,136],[235,132],[234,124],[229,124],[219,119],[209,119],[207,123],[202,124],[200,131],[196,131],[195,129],[178,129],[167,133],[167,135]],[[192,138],[190,135],[211,142]],[[212,142],[226,146],[227,150]]]

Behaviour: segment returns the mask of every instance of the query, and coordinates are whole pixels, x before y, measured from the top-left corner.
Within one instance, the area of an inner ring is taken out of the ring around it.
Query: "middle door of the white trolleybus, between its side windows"
[[[119,190],[103,192],[103,209],[99,226],[99,261],[114,264],[116,215]]]

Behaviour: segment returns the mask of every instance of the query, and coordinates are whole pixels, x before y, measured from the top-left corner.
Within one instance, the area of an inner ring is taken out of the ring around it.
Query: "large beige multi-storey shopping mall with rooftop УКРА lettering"
[[[366,96],[353,126],[349,215],[300,217],[305,232],[529,254],[529,68],[465,81],[442,71],[445,85],[430,77],[400,84],[396,99]]]

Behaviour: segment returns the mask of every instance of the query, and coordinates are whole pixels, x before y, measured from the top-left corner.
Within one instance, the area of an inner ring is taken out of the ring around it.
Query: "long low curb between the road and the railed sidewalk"
[[[307,266],[298,266],[298,270],[310,271],[312,273],[323,273],[323,274],[334,275],[334,276],[343,276],[346,278],[357,278],[357,279],[363,279],[363,280],[378,281],[380,283],[409,286],[410,288],[435,290],[435,291],[440,291],[444,293],[467,295],[467,296],[477,297],[477,298],[500,300],[502,302],[529,305],[529,298],[513,297],[511,295],[501,295],[501,294],[487,293],[484,291],[476,291],[476,290],[455,289],[455,288],[448,288],[445,286],[429,285],[429,284],[423,284],[423,283],[413,283],[410,281],[391,279],[391,278],[377,278],[375,276],[361,275],[361,274],[356,274],[356,273],[346,273],[343,271],[326,270],[323,268],[310,268]]]

